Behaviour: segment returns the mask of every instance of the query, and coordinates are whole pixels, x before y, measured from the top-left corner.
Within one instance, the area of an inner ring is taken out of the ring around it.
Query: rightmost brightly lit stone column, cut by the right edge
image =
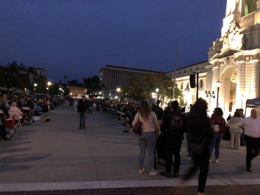
[[[260,97],[260,59],[253,59],[250,98]]]

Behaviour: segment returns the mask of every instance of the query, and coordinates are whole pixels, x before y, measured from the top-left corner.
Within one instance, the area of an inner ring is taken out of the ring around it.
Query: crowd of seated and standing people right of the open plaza
[[[260,118],[257,117],[255,109],[251,110],[250,117],[245,117],[243,110],[237,109],[233,116],[230,115],[225,120],[221,108],[216,108],[209,117],[207,103],[202,98],[199,98],[187,113],[185,108],[180,108],[178,101],[168,103],[164,110],[160,107],[160,100],[153,105],[149,105],[147,101],[142,101],[139,105],[99,100],[95,102],[95,105],[97,110],[107,114],[114,113],[111,110],[116,110],[119,120],[123,116],[123,124],[126,126],[124,133],[131,132],[130,129],[141,121],[139,174],[145,172],[143,164],[147,151],[149,174],[150,176],[157,175],[155,170],[155,164],[158,163],[155,162],[157,149],[157,152],[164,153],[157,153],[157,158],[161,157],[163,159],[160,160],[165,162],[164,164],[161,163],[162,161],[159,162],[165,166],[165,171],[160,175],[170,178],[178,177],[181,163],[180,149],[182,141],[186,137],[187,158],[193,160],[193,166],[188,170],[184,180],[193,176],[199,168],[199,195],[204,194],[209,163],[214,150],[214,162],[220,162],[220,142],[227,131],[227,126],[230,131],[231,149],[239,149],[245,140],[246,171],[252,172],[251,161],[259,154]]]

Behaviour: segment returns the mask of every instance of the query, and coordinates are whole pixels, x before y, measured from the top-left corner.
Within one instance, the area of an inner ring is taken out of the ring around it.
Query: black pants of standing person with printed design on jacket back
[[[172,162],[174,155],[174,173],[179,173],[180,170],[180,148],[182,136],[168,137],[166,149],[166,173],[172,173]]]

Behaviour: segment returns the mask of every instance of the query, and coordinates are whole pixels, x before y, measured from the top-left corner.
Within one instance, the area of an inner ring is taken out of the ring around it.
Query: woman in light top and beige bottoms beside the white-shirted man
[[[240,112],[236,111],[234,116],[229,120],[229,131],[230,131],[230,147],[231,149],[239,150],[240,147],[240,137],[242,129],[237,125],[238,122],[242,120]]]

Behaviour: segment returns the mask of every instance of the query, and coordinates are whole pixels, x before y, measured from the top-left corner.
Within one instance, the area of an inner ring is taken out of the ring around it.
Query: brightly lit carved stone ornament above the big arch
[[[232,48],[232,49],[241,49],[243,46],[244,33],[243,29],[240,27],[239,23],[235,20],[231,21],[229,24],[229,29],[225,33],[225,36],[222,37],[223,46],[221,51]]]

